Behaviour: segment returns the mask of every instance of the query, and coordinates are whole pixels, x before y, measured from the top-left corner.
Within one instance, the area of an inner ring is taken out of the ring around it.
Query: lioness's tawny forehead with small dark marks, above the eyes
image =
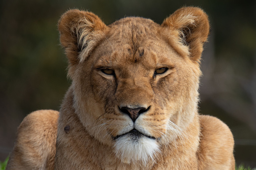
[[[177,53],[166,41],[160,25],[144,18],[125,18],[109,26],[111,29],[94,50],[99,65],[113,66],[142,61],[154,69],[158,63],[172,64]],[[174,60],[175,61],[175,60]]]

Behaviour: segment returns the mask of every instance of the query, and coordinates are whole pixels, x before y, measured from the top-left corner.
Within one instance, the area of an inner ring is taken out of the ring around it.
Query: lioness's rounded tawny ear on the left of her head
[[[86,60],[104,38],[108,27],[91,12],[69,10],[61,16],[58,30],[69,61],[68,75],[71,76],[73,66]]]

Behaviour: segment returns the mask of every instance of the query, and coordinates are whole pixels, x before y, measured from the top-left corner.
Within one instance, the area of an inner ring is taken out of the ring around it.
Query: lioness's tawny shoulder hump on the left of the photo
[[[53,169],[58,115],[38,110],[23,119],[7,169]]]

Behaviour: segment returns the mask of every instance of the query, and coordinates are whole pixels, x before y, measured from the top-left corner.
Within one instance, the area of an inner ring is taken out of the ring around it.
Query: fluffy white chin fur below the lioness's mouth
[[[159,152],[155,139],[141,136],[134,140],[129,135],[119,137],[115,143],[115,153],[124,163],[142,161],[144,164],[149,159],[154,160],[154,155]]]

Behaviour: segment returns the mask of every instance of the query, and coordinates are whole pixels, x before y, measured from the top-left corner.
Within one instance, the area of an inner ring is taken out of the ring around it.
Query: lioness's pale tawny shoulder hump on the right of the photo
[[[234,139],[228,126],[216,117],[200,115],[199,169],[234,169]]]

